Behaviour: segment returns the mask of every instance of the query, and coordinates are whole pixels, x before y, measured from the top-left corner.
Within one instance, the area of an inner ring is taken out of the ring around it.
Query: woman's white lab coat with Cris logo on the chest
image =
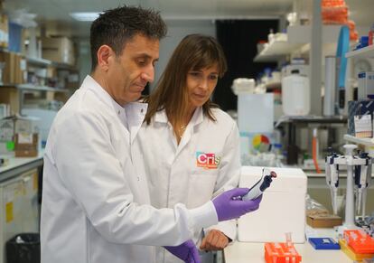
[[[154,115],[149,126],[144,123],[141,127],[135,146],[136,151],[144,155],[145,174],[154,207],[173,207],[182,202],[188,208],[194,208],[218,193],[238,186],[240,149],[237,124],[219,108],[212,108],[212,112],[216,122],[204,116],[202,108],[197,108],[179,145],[164,110]],[[214,154],[220,158],[220,164],[213,164],[209,169],[203,164],[204,155],[198,153]],[[198,158],[202,158],[200,164]],[[220,222],[210,229],[221,230],[232,240],[236,238],[236,221]],[[200,246],[201,231],[194,233],[194,240]],[[163,248],[156,250],[157,262],[182,262]]]

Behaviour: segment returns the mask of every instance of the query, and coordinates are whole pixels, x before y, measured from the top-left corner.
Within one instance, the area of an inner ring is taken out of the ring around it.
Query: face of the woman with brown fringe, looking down
[[[209,68],[201,70],[190,70],[187,73],[187,92],[189,97],[189,108],[194,110],[201,107],[210,99],[210,95],[216,88],[219,78],[217,63]]]

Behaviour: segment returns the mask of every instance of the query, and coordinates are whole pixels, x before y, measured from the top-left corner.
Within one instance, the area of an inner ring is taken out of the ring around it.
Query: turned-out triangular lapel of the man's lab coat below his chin
[[[147,108],[148,104],[141,102],[131,102],[125,105],[131,144],[134,143],[136,134],[143,124]]]

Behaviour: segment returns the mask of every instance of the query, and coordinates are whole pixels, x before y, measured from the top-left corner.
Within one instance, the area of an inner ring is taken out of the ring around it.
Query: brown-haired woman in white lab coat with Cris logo
[[[149,105],[136,147],[144,158],[155,207],[177,202],[197,207],[238,185],[238,127],[210,102],[226,70],[224,53],[214,38],[188,35],[173,52],[154,92],[145,98]],[[211,262],[207,251],[224,249],[235,239],[235,221],[194,237],[203,261]],[[176,262],[162,248],[156,257],[156,262]]]

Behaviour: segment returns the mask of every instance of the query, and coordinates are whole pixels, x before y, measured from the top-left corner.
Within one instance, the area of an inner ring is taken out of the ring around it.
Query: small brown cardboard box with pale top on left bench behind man
[[[15,157],[35,157],[38,155],[38,134],[15,134],[14,154]]]

